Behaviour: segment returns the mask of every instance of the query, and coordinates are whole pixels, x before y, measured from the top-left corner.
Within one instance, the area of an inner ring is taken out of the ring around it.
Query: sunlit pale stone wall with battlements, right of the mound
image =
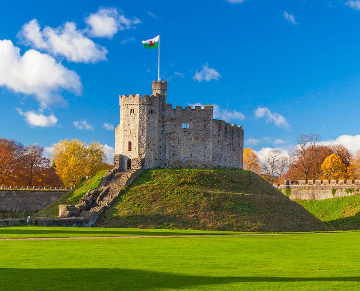
[[[273,184],[291,200],[323,200],[360,194],[360,180],[285,180]]]

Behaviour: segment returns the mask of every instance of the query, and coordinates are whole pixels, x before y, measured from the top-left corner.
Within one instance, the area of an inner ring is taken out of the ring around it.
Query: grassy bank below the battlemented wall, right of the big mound
[[[332,229],[360,229],[360,195],[296,202]]]

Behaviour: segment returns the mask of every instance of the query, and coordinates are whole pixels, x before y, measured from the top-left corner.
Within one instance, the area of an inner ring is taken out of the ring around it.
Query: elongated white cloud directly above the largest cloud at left
[[[63,56],[68,61],[96,63],[107,60],[108,50],[87,38],[74,22],[66,22],[57,28],[45,26],[41,31],[37,19],[32,19],[23,25],[18,37],[25,45]]]

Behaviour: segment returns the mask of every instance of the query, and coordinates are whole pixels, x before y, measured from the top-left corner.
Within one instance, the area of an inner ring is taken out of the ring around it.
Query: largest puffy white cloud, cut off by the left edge
[[[80,94],[82,85],[76,72],[68,70],[53,57],[36,50],[23,56],[11,40],[0,40],[0,86],[17,93],[34,95],[42,108],[63,102],[59,91]]]

